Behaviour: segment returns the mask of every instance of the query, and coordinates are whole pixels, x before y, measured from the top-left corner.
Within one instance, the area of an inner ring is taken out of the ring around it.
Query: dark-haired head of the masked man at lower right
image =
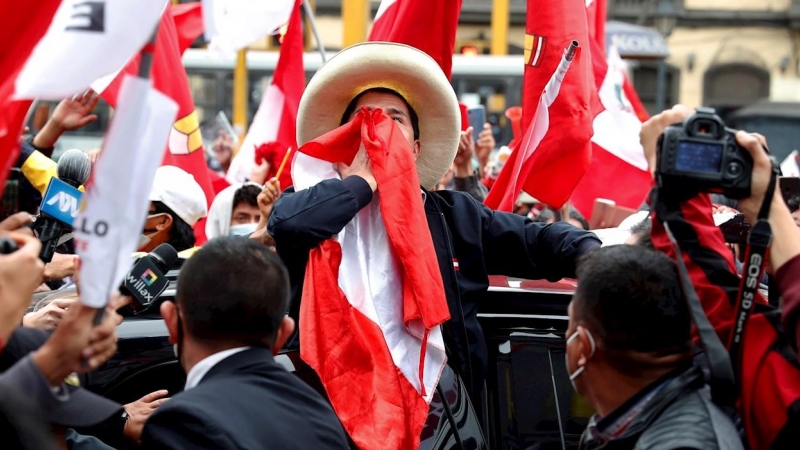
[[[569,306],[567,370],[591,401],[600,379],[657,378],[691,358],[691,323],[675,264],[640,246],[594,250]]]

